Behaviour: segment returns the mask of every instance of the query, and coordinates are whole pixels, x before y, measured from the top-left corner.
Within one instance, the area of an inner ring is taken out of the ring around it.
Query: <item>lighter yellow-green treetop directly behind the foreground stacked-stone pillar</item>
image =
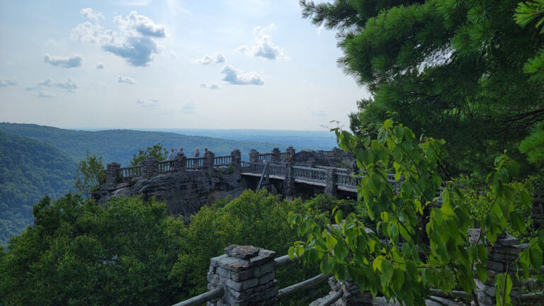
[[[188,298],[207,290],[205,276],[210,258],[224,254],[225,246],[253,245],[276,251],[278,256],[287,254],[289,245],[285,242],[297,237],[286,222],[288,213],[317,211],[310,209],[314,206],[311,203],[313,201],[304,204],[300,198],[290,202],[266,191],[247,190],[229,203],[218,201],[212,207],[201,208],[179,234],[183,245],[171,276],[179,281],[183,295]],[[292,265],[276,271],[276,279],[283,288],[317,274],[315,267]],[[311,300],[305,304],[309,302]]]

